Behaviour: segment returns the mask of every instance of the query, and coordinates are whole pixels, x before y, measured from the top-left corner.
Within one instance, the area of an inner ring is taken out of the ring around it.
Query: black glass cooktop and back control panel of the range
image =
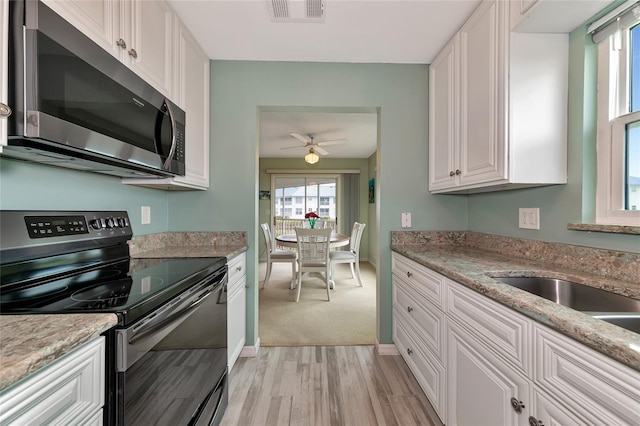
[[[0,312],[114,313],[135,322],[226,264],[132,259],[126,212],[0,212]]]

